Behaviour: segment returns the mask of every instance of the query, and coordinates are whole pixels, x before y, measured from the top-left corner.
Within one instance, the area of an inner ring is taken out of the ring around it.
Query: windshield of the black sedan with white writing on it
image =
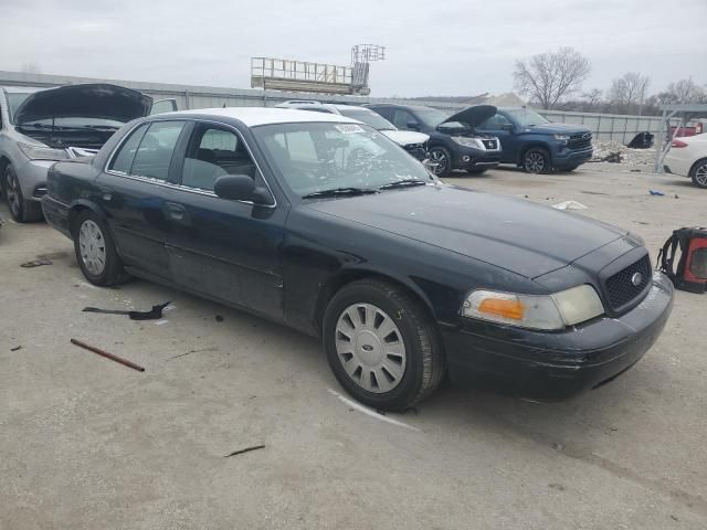
[[[299,197],[371,191],[401,181],[434,182],[422,163],[365,125],[276,124],[252,130],[281,180]]]

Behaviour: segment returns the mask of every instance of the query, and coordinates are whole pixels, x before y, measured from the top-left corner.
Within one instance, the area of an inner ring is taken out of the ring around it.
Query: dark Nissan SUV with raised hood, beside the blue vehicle
[[[492,105],[468,107],[452,116],[416,105],[371,104],[367,107],[400,130],[430,135],[428,152],[437,177],[446,177],[454,169],[483,173],[502,160],[498,138],[477,129],[478,124],[496,114],[497,109]]]

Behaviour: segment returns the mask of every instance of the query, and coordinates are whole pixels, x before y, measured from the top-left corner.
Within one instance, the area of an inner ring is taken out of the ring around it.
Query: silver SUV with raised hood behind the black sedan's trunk
[[[95,155],[125,123],[176,110],[108,84],[0,87],[0,191],[19,222],[42,218],[46,171],[57,160]]]

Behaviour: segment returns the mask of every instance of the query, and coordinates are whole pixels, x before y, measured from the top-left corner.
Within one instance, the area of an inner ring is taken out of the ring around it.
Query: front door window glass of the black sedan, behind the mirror
[[[189,144],[181,183],[213,191],[223,174],[247,174],[255,178],[255,163],[240,137],[229,129],[200,126]]]

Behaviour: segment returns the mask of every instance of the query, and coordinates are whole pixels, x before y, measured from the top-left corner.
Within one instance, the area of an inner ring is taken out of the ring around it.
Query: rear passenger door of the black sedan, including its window
[[[191,123],[146,123],[134,129],[97,179],[98,201],[107,214],[126,265],[170,278],[165,250],[169,222],[166,204],[176,193],[180,149]]]

